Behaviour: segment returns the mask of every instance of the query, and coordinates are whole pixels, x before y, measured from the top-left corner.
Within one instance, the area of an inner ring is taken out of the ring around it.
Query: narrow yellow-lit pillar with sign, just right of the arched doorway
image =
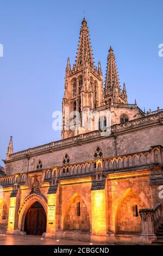
[[[45,237],[55,237],[57,194],[47,194],[47,225]]]

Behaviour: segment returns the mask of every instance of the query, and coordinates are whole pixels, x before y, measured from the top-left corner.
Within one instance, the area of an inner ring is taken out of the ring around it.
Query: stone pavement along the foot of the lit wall
[[[91,243],[65,239],[49,239],[33,235],[0,235],[0,245],[101,245],[102,243]]]

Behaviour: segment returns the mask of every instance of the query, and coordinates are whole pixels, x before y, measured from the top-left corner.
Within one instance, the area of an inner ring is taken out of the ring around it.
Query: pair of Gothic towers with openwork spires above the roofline
[[[117,107],[118,112],[120,112],[120,108],[125,108],[125,110],[127,110],[127,106],[126,86],[123,84],[123,90],[120,87],[114,52],[110,46],[104,84],[101,63],[98,62],[97,68],[93,62],[89,28],[87,27],[87,22],[84,18],[80,28],[76,63],[73,64],[71,68],[70,59],[68,58],[67,60],[65,92],[62,100],[61,137],[62,139],[65,139],[90,131],[85,127],[83,128],[83,112],[98,112],[102,109],[109,108],[110,112],[114,113],[114,115],[111,114],[111,124],[115,124],[120,123],[118,120],[121,119],[121,117],[117,117]],[[76,111],[81,115],[80,120],[76,120],[76,114],[70,115],[70,113],[75,113]],[[125,112],[122,114],[127,115],[126,120],[129,119],[130,114],[127,114],[124,110],[122,112]],[[89,122],[89,119],[87,122]],[[67,126],[67,124],[70,125]],[[73,127],[73,129],[67,129],[67,127],[71,128],[72,124],[74,124],[74,127],[76,128]]]

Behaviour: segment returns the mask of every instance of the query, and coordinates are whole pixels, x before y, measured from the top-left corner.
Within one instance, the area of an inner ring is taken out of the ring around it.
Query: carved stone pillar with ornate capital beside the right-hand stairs
[[[156,240],[156,235],[154,234],[154,223],[153,223],[153,209],[140,209],[141,216],[141,242],[142,243],[152,243],[152,240]]]

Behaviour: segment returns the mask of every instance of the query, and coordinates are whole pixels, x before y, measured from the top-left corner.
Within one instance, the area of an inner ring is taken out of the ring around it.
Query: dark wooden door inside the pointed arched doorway
[[[28,209],[24,231],[27,235],[42,235],[46,232],[46,212],[39,202],[35,202]]]

